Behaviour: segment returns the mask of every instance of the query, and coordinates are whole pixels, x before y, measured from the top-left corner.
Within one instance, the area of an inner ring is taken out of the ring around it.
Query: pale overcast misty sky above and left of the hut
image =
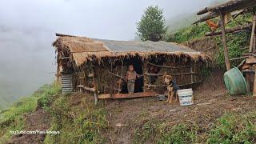
[[[0,0],[0,96],[25,96],[53,81],[56,32],[131,40],[147,6],[158,5],[170,19],[213,1]]]

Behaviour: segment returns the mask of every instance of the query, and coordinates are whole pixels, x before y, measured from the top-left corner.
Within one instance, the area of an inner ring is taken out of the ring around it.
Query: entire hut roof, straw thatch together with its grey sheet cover
[[[88,61],[100,62],[102,58],[126,58],[139,56],[142,59],[151,56],[166,55],[181,58],[201,59],[210,58],[189,47],[172,42],[134,42],[113,41],[106,39],[84,38],[70,35],[59,35],[53,46],[60,51],[66,51],[74,59],[77,66]]]

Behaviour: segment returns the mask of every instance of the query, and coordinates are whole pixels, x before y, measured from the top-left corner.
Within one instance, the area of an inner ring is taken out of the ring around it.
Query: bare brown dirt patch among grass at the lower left
[[[50,114],[47,114],[44,110],[38,109],[31,114],[24,116],[25,130],[48,130],[50,128]],[[30,143],[42,143],[46,137],[46,134],[17,134],[14,135],[10,142],[12,144],[30,144]]]

